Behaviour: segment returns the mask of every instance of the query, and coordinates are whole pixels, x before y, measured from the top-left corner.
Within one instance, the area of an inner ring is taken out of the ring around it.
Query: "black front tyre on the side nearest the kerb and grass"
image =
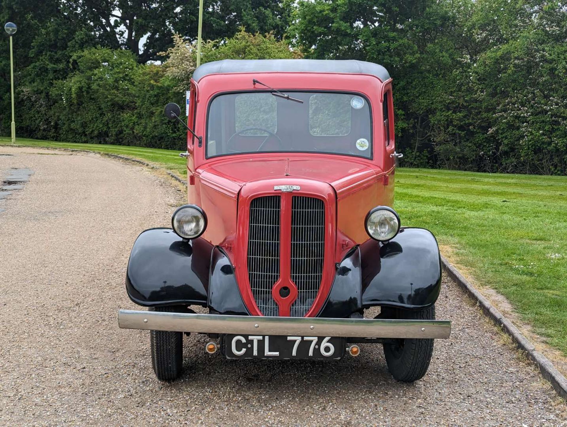
[[[435,306],[425,310],[403,310],[384,307],[382,319],[434,320]],[[421,379],[428,370],[433,354],[433,339],[405,338],[384,343],[388,370],[397,381],[411,383]]]

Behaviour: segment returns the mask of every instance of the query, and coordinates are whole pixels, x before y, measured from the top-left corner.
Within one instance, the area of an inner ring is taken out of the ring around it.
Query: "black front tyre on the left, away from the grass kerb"
[[[185,307],[153,307],[151,311],[184,312]],[[160,381],[179,377],[183,367],[183,332],[150,331],[151,366]]]

